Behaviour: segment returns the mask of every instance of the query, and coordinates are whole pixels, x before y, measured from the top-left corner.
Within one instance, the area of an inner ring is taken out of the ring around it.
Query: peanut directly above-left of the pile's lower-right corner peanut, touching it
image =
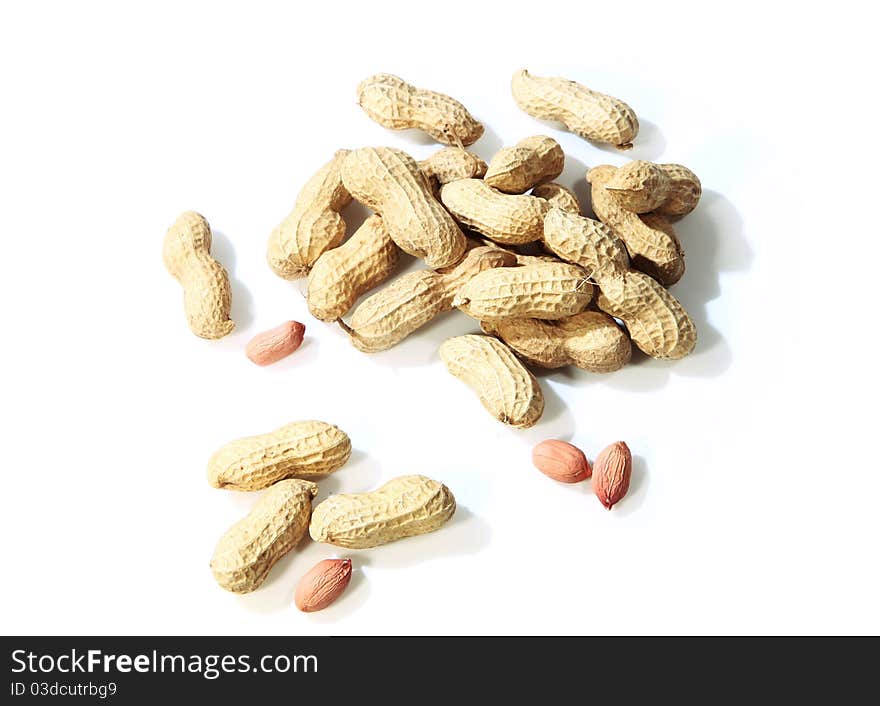
[[[544,247],[583,267],[597,282],[626,272],[626,245],[604,223],[551,208],[544,219]]]

